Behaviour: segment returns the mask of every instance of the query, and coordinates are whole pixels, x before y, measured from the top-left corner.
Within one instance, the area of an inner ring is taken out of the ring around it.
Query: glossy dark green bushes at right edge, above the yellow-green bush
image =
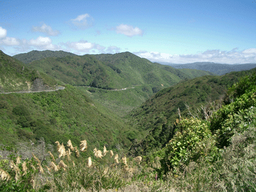
[[[244,89],[243,87],[247,88]],[[210,130],[219,134],[219,146],[227,146],[235,132],[242,133],[246,127],[241,123],[249,123],[255,117],[256,107],[255,75],[245,77],[229,90],[229,96],[234,96],[234,102],[225,105],[211,118]]]

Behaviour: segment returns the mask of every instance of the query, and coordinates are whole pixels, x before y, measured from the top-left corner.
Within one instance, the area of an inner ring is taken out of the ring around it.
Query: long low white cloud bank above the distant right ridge
[[[256,49],[246,49],[239,51],[237,48],[226,50],[206,50],[198,54],[171,55],[160,52],[147,52],[140,50],[134,52],[139,57],[152,60],[153,62],[169,62],[175,64],[186,64],[193,62],[215,62],[221,64],[245,64],[256,63]]]

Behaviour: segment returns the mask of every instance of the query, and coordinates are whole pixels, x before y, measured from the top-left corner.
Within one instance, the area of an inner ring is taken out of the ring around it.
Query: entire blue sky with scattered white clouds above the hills
[[[0,1],[0,49],[256,62],[256,1]]]

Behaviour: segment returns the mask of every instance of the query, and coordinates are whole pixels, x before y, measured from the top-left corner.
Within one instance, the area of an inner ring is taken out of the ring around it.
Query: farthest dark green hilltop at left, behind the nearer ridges
[[[31,52],[13,55],[12,57],[14,57],[17,60],[21,60],[21,62],[23,62],[24,64],[29,64],[34,60],[40,60],[47,57],[66,57],[67,55],[74,56],[76,54],[72,54],[71,52],[65,52],[63,50],[32,50]]]

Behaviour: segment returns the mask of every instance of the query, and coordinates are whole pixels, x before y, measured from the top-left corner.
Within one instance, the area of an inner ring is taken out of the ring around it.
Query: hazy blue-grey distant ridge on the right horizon
[[[232,71],[250,70],[256,67],[256,64],[216,64],[214,62],[194,62],[190,64],[168,64],[160,62],[160,64],[170,65],[175,69],[197,69],[206,70],[217,75],[224,75]]]

